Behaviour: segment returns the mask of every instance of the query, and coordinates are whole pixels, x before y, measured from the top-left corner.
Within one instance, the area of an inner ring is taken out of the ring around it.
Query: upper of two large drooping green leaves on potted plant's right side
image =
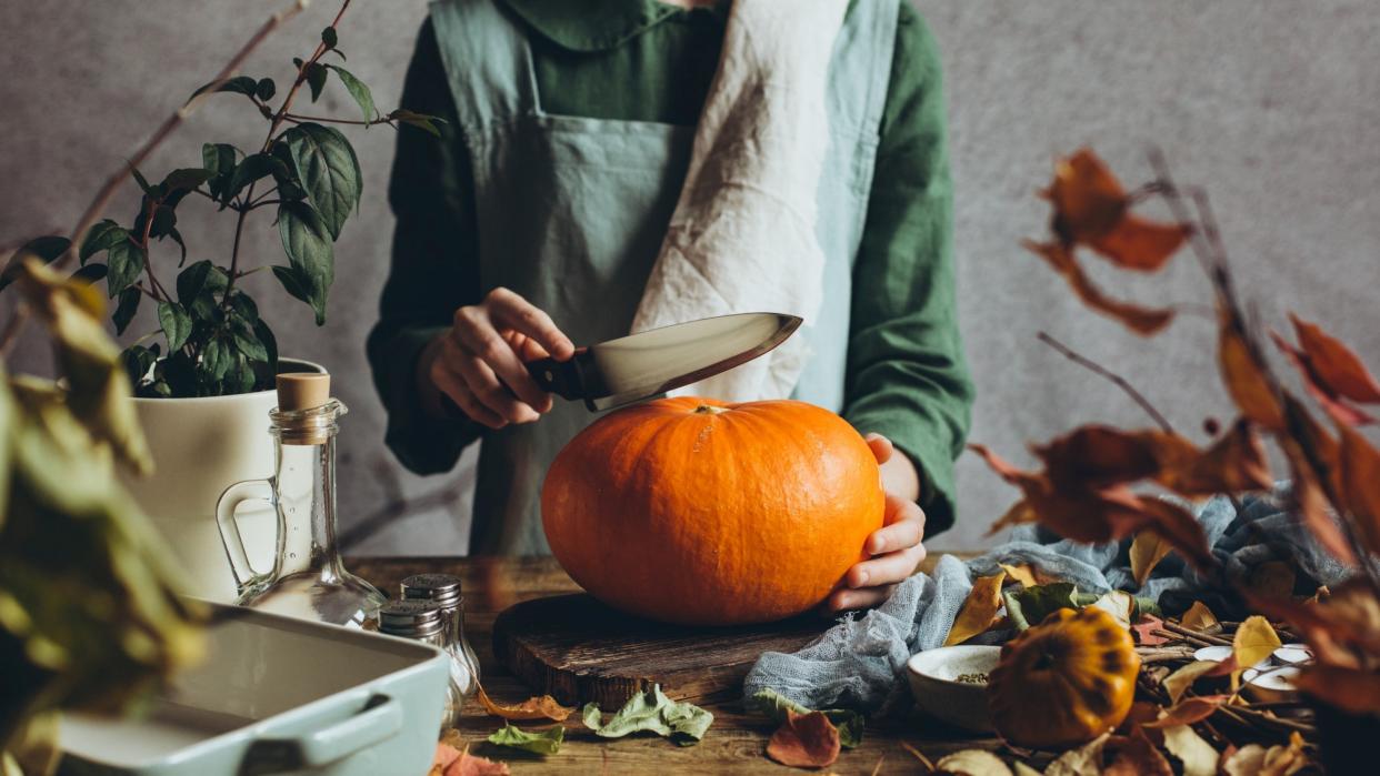
[[[283,143],[322,223],[337,240],[363,190],[355,149],[339,131],[310,121],[283,132]]]

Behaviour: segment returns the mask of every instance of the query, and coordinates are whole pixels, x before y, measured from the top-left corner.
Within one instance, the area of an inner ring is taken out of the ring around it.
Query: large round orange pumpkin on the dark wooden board
[[[600,601],[686,624],[818,605],[882,527],[876,458],[802,401],[662,398],[613,412],[552,462],[551,551]]]

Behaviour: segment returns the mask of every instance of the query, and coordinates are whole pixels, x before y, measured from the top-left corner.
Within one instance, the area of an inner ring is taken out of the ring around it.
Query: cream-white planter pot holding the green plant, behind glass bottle
[[[320,365],[279,360],[284,372],[322,372]],[[241,480],[273,476],[268,413],[273,390],[204,398],[135,398],[153,453],[155,473],[126,485],[163,533],[186,573],[184,593],[233,602],[225,544],[215,525],[215,502]],[[268,503],[247,502],[237,513],[240,535],[257,571],[273,562],[277,518]]]

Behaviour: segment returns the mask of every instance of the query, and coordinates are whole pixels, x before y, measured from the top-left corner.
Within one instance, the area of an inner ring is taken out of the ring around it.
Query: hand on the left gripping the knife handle
[[[495,288],[479,305],[455,310],[450,331],[422,350],[417,382],[432,415],[444,415],[440,397],[446,396],[472,420],[502,429],[551,411],[551,394],[524,364],[548,356],[566,361],[574,353],[551,316]]]

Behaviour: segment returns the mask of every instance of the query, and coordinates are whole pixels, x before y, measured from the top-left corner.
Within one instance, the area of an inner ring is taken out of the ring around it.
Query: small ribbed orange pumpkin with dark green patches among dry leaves
[[[1121,725],[1140,656],[1130,631],[1096,606],[1058,609],[1002,646],[988,677],[996,732],[1031,748],[1068,748]]]

